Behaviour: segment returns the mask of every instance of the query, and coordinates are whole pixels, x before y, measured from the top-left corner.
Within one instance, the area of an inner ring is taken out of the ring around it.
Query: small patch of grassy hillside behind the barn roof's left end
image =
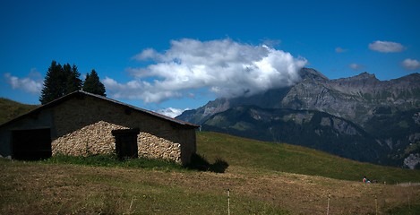
[[[0,125],[37,107],[39,106],[25,105],[11,99],[0,98]]]

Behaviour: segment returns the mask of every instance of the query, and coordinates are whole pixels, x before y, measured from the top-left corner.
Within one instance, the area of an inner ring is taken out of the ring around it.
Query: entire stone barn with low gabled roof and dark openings
[[[192,125],[85,91],[75,91],[0,125],[0,156],[57,154],[168,159],[186,165],[196,151]]]

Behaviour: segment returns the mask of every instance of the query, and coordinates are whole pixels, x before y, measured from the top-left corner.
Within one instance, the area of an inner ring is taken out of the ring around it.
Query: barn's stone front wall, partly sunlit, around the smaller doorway
[[[85,97],[70,99],[54,109],[56,136],[53,155],[86,156],[116,152],[112,130],[139,128],[138,154],[150,159],[169,159],[187,164],[195,152],[195,130],[157,116]]]

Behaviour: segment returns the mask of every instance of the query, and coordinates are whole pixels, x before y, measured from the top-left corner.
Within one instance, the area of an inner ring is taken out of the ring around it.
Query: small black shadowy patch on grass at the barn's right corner
[[[191,163],[186,166],[186,168],[190,169],[215,173],[224,173],[228,167],[229,164],[226,160],[218,158],[214,161],[214,163],[210,164],[207,159],[196,153],[191,156]]]

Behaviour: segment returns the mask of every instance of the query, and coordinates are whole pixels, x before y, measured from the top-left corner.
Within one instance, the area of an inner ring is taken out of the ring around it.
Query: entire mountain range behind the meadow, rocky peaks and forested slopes
[[[420,74],[380,81],[330,80],[303,68],[300,81],[250,97],[220,98],[177,118],[216,131],[288,142],[348,159],[420,168]]]

